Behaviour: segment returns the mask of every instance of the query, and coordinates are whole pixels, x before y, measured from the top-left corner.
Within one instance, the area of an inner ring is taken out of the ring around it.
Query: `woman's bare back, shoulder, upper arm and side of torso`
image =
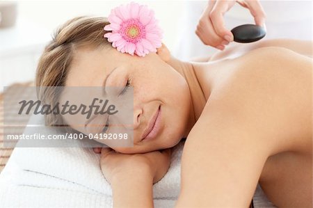
[[[200,198],[185,190],[201,187],[207,205],[248,207],[259,181],[278,207],[312,206],[312,51],[298,43],[224,51],[195,68],[208,100],[186,141],[182,195]]]

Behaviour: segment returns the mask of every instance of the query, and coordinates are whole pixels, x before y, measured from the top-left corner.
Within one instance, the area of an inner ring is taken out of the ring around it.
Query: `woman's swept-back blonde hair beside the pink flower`
[[[111,45],[104,38],[106,24],[109,24],[106,17],[83,16],[70,19],[56,30],[40,56],[35,77],[38,99],[42,104],[54,106],[58,102],[62,92],[53,86],[65,86],[76,49],[85,45],[95,48]],[[45,115],[45,122],[50,126],[67,126],[61,115],[54,113]]]

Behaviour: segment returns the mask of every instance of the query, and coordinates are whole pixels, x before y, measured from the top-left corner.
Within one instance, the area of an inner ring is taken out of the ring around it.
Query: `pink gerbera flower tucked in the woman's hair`
[[[104,34],[104,38],[118,51],[145,56],[161,47],[162,31],[147,6],[134,2],[121,5],[111,10],[108,19],[110,24],[104,30],[112,32]]]

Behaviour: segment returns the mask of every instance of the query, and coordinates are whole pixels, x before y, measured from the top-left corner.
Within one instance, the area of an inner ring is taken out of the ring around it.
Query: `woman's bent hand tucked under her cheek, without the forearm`
[[[166,175],[170,166],[170,155],[170,149],[143,154],[122,154],[104,147],[101,150],[100,166],[104,177],[110,183],[128,177],[129,180],[145,177],[156,183]]]

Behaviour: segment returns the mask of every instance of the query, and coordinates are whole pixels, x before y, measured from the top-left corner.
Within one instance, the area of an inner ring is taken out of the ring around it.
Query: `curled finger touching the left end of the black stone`
[[[234,3],[235,1],[217,1],[209,14],[216,34],[228,42],[232,42],[234,37],[232,33],[226,29],[223,15],[234,5]]]

